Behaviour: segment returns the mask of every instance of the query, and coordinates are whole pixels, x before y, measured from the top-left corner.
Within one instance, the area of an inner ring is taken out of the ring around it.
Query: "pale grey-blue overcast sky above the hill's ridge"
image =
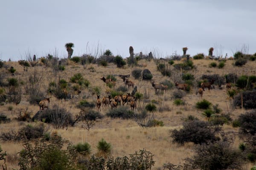
[[[256,0],[3,0],[0,59],[48,53],[73,56],[153,52],[155,57],[191,56],[214,47],[215,56],[247,47],[256,52]]]

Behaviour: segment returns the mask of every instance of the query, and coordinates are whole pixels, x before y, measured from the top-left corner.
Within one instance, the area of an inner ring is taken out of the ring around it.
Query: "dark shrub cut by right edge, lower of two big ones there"
[[[256,134],[256,110],[248,111],[247,113],[239,115],[238,121],[240,123],[240,134]]]

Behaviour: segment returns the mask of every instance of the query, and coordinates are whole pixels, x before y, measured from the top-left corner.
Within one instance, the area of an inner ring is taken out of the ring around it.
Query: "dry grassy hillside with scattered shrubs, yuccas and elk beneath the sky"
[[[72,57],[73,47],[67,58],[0,60],[3,170],[255,166],[255,54],[219,61],[185,47],[159,59],[131,46],[127,58]]]

